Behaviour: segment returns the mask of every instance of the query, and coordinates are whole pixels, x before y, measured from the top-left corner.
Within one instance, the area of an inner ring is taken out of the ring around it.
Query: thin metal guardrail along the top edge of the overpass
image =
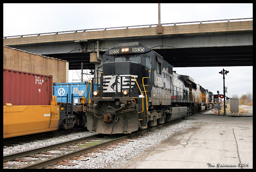
[[[177,22],[177,23],[161,23],[161,25],[177,25],[177,24],[184,24],[184,23],[200,23],[203,22],[219,22],[219,21],[227,21],[230,22],[231,20],[248,20],[253,18],[237,18],[237,19],[223,19],[223,20],[205,20],[205,21],[195,21],[195,22]],[[118,29],[118,28],[126,28],[129,27],[142,27],[142,26],[156,26],[158,24],[148,24],[148,25],[133,25],[133,26],[121,26],[121,27],[105,27],[105,28],[97,28],[97,29],[80,29],[80,30],[71,30],[71,31],[57,31],[57,32],[47,32],[47,33],[35,33],[35,34],[27,34],[27,35],[16,35],[16,36],[6,36],[3,37],[4,39],[11,38],[11,37],[24,37],[24,36],[40,36],[40,35],[53,35],[59,33],[77,33],[77,32],[86,32],[86,31],[94,31],[94,30],[107,30],[107,29]]]

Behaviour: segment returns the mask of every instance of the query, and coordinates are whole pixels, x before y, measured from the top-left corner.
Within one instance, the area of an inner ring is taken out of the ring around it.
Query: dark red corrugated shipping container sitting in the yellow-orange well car
[[[52,76],[4,69],[4,104],[50,105]]]

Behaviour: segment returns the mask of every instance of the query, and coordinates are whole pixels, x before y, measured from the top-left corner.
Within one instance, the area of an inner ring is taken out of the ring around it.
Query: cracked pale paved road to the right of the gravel
[[[122,168],[253,168],[252,117],[197,114],[212,122],[162,142]]]

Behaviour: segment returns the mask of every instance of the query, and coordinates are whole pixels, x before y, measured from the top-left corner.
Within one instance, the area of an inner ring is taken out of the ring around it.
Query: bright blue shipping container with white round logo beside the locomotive
[[[73,103],[82,103],[82,97],[86,97],[86,100],[89,101],[89,93],[90,93],[90,86],[89,83],[87,89],[87,82],[69,82],[69,83],[54,83],[53,85],[53,95],[57,96],[57,102],[67,102],[67,94],[68,94],[68,102],[71,103],[71,94],[73,94]],[[98,86],[100,84],[94,83],[94,90],[98,90]],[[86,93],[84,91],[86,89]],[[92,88],[91,88],[92,90]],[[90,94],[90,98],[92,98],[92,91]]]

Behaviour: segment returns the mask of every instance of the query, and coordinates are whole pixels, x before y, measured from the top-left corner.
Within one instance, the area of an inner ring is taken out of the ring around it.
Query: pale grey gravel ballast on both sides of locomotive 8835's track
[[[192,127],[197,125],[202,125],[210,121],[200,121],[200,120],[182,120],[176,123],[172,123],[160,129],[155,129],[129,140],[131,142],[126,142],[125,144],[118,145],[117,148],[114,148],[110,151],[104,151],[104,153],[93,152],[91,154],[97,155],[96,158],[89,157],[89,160],[68,160],[67,162],[76,163],[74,166],[67,165],[58,165],[55,164],[52,167],[54,168],[120,168],[124,163],[132,160],[134,156],[139,156],[144,151],[153,149],[162,141],[172,137],[172,135],[184,132]],[[46,145],[51,145],[54,143],[66,141],[68,139],[76,139],[79,137],[85,137],[94,135],[90,132],[81,132],[69,135],[63,135],[60,137],[54,137],[51,139],[45,140],[35,140],[30,143],[24,143],[22,145],[16,145],[13,147],[4,148],[4,155],[10,154],[18,151],[25,151],[28,149],[33,149],[36,147],[42,147]],[[86,158],[81,156],[81,158]],[[16,162],[12,162],[16,163]],[[6,168],[6,167],[4,167]]]

